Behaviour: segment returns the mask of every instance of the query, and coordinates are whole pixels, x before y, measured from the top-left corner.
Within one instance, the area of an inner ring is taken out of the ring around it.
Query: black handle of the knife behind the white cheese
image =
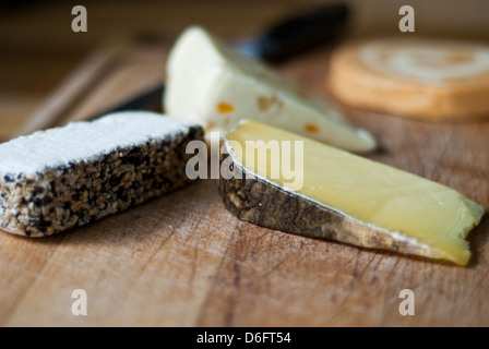
[[[333,3],[281,21],[257,41],[257,56],[277,63],[315,46],[334,43],[345,31],[349,7]]]

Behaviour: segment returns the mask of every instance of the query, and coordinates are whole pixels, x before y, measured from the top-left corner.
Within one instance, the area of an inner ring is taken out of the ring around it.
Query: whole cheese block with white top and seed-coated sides
[[[183,186],[190,122],[128,111],[0,144],[0,229],[43,237]]]

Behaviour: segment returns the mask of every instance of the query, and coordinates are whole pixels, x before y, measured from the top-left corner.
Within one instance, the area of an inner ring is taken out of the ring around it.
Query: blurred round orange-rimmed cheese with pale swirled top
[[[378,39],[333,53],[329,84],[343,103],[425,120],[489,118],[489,46]]]

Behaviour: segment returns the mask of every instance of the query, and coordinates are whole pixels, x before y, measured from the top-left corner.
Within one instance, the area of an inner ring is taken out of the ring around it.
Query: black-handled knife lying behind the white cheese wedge
[[[235,47],[244,56],[271,64],[281,63],[314,47],[334,44],[345,32],[349,16],[350,9],[344,3],[321,5],[285,19],[271,26],[258,39],[237,43]],[[157,86],[131,100],[94,115],[88,120],[126,110],[162,111],[164,92],[165,85]]]

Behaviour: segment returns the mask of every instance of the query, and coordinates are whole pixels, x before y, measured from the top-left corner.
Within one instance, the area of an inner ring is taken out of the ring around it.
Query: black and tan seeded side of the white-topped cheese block
[[[7,173],[0,178],[0,229],[50,236],[181,188],[190,181],[186,147],[193,140],[203,140],[200,127],[34,174]]]

